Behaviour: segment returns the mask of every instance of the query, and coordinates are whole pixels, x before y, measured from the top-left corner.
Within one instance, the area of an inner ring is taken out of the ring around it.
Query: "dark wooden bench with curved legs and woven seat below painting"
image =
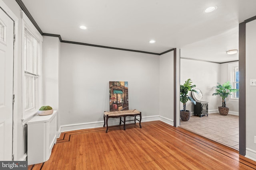
[[[140,116],[140,120],[136,119],[136,116]],[[108,118],[112,117],[112,118],[118,118],[120,117],[120,123],[119,125],[121,125],[121,122],[124,123],[124,130],[125,130],[125,122],[126,122],[126,116],[133,116],[134,117],[134,123],[136,123],[136,120],[139,121],[141,123],[141,112],[134,109],[134,110],[122,110],[122,111],[104,111],[104,125],[103,127],[105,127],[105,123],[107,124],[107,129],[106,129],[106,133],[108,133]],[[124,121],[122,121],[122,117],[124,117]],[[106,118],[106,121],[105,121]],[[133,121],[133,120],[128,120],[128,121]],[[140,125],[141,128],[141,125]]]

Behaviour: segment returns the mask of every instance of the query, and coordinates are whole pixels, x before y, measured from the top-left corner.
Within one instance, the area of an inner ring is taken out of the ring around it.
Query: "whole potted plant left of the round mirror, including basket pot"
[[[194,105],[196,104],[194,99],[188,96],[189,91],[198,93],[196,90],[192,89],[194,87],[196,87],[196,85],[192,85],[192,81],[190,78],[186,80],[183,85],[180,85],[180,102],[183,103],[183,110],[180,110],[180,119],[182,121],[188,121],[191,114],[189,110],[186,110],[186,102],[190,100]]]

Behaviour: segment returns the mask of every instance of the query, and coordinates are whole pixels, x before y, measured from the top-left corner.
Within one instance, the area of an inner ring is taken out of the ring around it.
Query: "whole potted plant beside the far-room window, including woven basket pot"
[[[220,115],[227,115],[229,108],[226,107],[226,98],[228,95],[232,95],[232,92],[238,91],[238,89],[233,89],[231,83],[225,82],[223,85],[217,83],[218,86],[215,86],[215,93],[212,96],[220,95],[222,98],[222,106],[218,107]]]

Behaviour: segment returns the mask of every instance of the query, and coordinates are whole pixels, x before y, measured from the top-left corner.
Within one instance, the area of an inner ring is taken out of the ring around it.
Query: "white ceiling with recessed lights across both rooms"
[[[256,0],[22,0],[43,33],[62,40],[214,62],[238,60],[238,24]],[[206,13],[209,6],[217,6]],[[84,25],[87,29],[80,29]],[[154,39],[156,43],[150,44]]]

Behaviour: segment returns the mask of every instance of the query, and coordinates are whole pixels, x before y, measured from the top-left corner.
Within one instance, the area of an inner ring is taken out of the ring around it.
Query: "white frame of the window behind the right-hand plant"
[[[238,71],[239,71],[239,63],[238,62],[237,63],[228,64],[228,72],[229,72],[228,79],[229,79],[230,83],[232,84],[232,88],[235,88],[236,87],[235,84],[237,83],[236,80],[235,80],[236,79],[236,69],[238,69]],[[238,83],[239,83],[239,81],[238,81]],[[234,97],[234,96],[236,96],[235,93],[236,92],[232,92],[232,95],[228,96],[228,100],[230,100],[230,101],[238,101],[239,97],[238,98]]]

